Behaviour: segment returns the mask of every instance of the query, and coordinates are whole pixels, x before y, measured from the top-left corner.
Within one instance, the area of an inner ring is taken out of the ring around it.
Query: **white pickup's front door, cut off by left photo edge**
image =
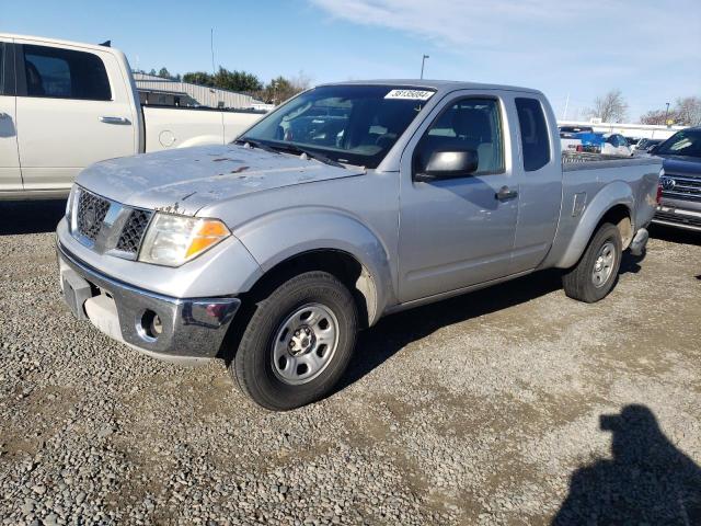
[[[14,96],[14,49],[0,41],[0,194],[22,190]]]

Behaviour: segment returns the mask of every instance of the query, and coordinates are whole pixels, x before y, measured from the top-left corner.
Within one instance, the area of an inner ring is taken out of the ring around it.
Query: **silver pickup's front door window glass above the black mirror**
[[[445,110],[418,142],[414,167],[421,171],[435,151],[472,150],[475,175],[504,172],[504,140],[495,99],[462,99]]]

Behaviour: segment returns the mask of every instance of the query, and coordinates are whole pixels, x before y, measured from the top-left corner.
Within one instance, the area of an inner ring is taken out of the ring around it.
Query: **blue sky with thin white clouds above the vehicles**
[[[0,33],[111,39],[147,71],[211,71],[211,30],[216,66],[263,81],[418,78],[428,55],[426,78],[536,88],[559,118],[611,89],[629,121],[701,96],[701,0],[0,0]]]

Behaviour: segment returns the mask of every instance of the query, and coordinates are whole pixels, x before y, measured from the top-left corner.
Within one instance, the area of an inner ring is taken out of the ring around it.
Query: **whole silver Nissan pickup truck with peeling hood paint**
[[[565,162],[566,161],[566,162]],[[230,145],[99,162],[57,228],[66,301],[258,404],[320,399],[379,318],[542,268],[597,301],[644,250],[662,161],[562,157],[535,90],[309,90]]]

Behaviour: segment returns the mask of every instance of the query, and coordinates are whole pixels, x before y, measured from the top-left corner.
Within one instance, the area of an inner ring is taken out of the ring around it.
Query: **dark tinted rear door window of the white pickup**
[[[92,53],[25,45],[24,71],[28,96],[112,99],[105,65]]]

